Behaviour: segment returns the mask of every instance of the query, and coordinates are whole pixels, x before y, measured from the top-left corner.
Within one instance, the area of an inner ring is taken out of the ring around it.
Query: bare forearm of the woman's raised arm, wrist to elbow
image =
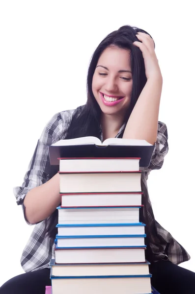
[[[150,144],[156,142],[162,86],[161,75],[147,80],[127,122],[124,139],[142,139]]]

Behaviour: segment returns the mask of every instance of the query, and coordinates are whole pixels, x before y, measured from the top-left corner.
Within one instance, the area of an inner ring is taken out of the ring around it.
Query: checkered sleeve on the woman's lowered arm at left
[[[24,199],[28,191],[46,183],[49,179],[50,160],[49,146],[60,139],[61,114],[57,113],[45,126],[40,139],[37,142],[33,156],[28,165],[24,182],[21,186],[14,187],[13,192],[18,205],[22,205],[25,220]],[[30,224],[27,221],[28,224]]]

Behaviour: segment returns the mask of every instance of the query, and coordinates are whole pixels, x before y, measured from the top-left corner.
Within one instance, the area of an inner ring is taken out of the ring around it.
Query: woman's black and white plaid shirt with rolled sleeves
[[[84,106],[79,108],[82,110]],[[22,186],[14,188],[14,195],[17,204],[22,205],[24,216],[25,206],[24,198],[28,191],[34,187],[40,186],[51,178],[49,146],[60,139],[66,138],[67,130],[70,126],[72,115],[75,110],[67,110],[57,113],[45,126],[40,139],[38,140],[34,154],[28,166],[28,172],[25,175]],[[125,125],[121,127],[116,137],[124,130]],[[103,138],[102,138],[103,139]],[[154,169],[160,169],[163,165],[164,157],[168,151],[167,127],[165,123],[158,123],[158,136],[155,149],[152,155],[150,165],[147,168],[140,168],[142,171],[141,185],[144,197],[147,197],[146,213],[150,221],[149,225],[155,228],[155,234],[152,236],[150,247],[155,259],[168,258],[172,263],[179,264],[190,259],[186,250],[167,232],[155,219],[147,191],[148,174]],[[26,217],[25,220],[27,221]],[[144,220],[143,220],[144,221]],[[28,223],[28,221],[27,221]],[[30,223],[28,223],[30,224]],[[49,267],[51,258],[55,258],[55,244],[50,237],[44,235],[46,222],[37,223],[26,247],[22,253],[21,265],[28,272]]]

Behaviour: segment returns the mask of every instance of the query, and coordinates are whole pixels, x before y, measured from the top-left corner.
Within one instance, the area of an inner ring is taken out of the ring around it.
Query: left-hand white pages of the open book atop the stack
[[[81,138],[75,138],[75,139],[64,139],[59,140],[56,143],[54,143],[52,146],[73,146],[73,145],[102,145],[102,142],[100,139],[96,137],[81,137]]]

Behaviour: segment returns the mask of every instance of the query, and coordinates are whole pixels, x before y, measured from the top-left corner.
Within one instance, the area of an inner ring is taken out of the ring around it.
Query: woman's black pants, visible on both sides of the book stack
[[[151,284],[160,294],[195,294],[195,272],[169,261],[151,264]],[[50,269],[20,274],[0,287],[0,294],[45,294],[50,286]]]

